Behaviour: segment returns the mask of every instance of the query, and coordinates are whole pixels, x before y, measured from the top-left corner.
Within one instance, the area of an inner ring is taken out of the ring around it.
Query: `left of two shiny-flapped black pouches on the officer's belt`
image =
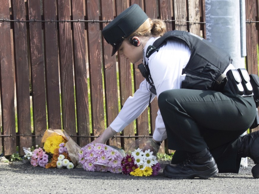
[[[228,78],[228,82],[229,82],[228,84],[229,84],[231,91],[234,94],[243,95],[244,88],[241,84],[242,79],[238,73],[238,70],[236,70],[236,69],[228,70],[227,78]]]

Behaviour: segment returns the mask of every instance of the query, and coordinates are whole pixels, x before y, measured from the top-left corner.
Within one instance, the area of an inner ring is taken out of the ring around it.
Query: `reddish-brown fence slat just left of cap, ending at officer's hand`
[[[98,0],[87,1],[88,20],[99,20]],[[100,24],[88,23],[88,60],[90,74],[90,92],[92,109],[93,134],[99,135],[105,129],[104,126],[104,100],[102,84],[102,65],[101,65],[101,36]]]

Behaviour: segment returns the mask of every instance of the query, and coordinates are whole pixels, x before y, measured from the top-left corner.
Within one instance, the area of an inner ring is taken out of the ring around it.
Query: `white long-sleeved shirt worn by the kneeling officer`
[[[145,53],[147,47],[152,45],[156,39],[158,39],[158,37],[152,37],[147,41],[144,48]],[[158,52],[152,54],[149,59],[146,59],[157,96],[163,91],[180,88],[182,69],[187,65],[190,54],[191,51],[185,43],[168,41],[168,43],[161,47]],[[140,84],[139,89],[134,93],[134,96],[128,97],[123,108],[120,110],[120,113],[110,124],[112,129],[116,132],[121,132],[147,108],[150,97],[150,92],[147,88],[149,88],[149,85],[147,86],[147,82],[144,80]],[[154,98],[155,95],[153,94],[152,100]],[[158,110],[153,138],[156,141],[163,141],[166,137],[165,125],[160,110]]]

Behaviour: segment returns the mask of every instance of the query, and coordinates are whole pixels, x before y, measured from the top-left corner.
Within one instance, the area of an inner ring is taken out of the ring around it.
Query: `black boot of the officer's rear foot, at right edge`
[[[259,178],[259,131],[239,137],[238,156],[241,158],[250,157],[254,161],[252,175],[254,178]]]

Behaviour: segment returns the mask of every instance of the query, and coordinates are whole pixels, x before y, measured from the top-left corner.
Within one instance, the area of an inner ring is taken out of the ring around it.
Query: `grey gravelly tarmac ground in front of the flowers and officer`
[[[82,167],[72,170],[33,167],[29,161],[0,163],[0,193],[259,193],[259,179],[252,177],[254,165],[239,174],[224,173],[210,179],[170,179],[163,176],[166,162],[161,162],[157,177],[134,177],[110,172],[88,172]]]

